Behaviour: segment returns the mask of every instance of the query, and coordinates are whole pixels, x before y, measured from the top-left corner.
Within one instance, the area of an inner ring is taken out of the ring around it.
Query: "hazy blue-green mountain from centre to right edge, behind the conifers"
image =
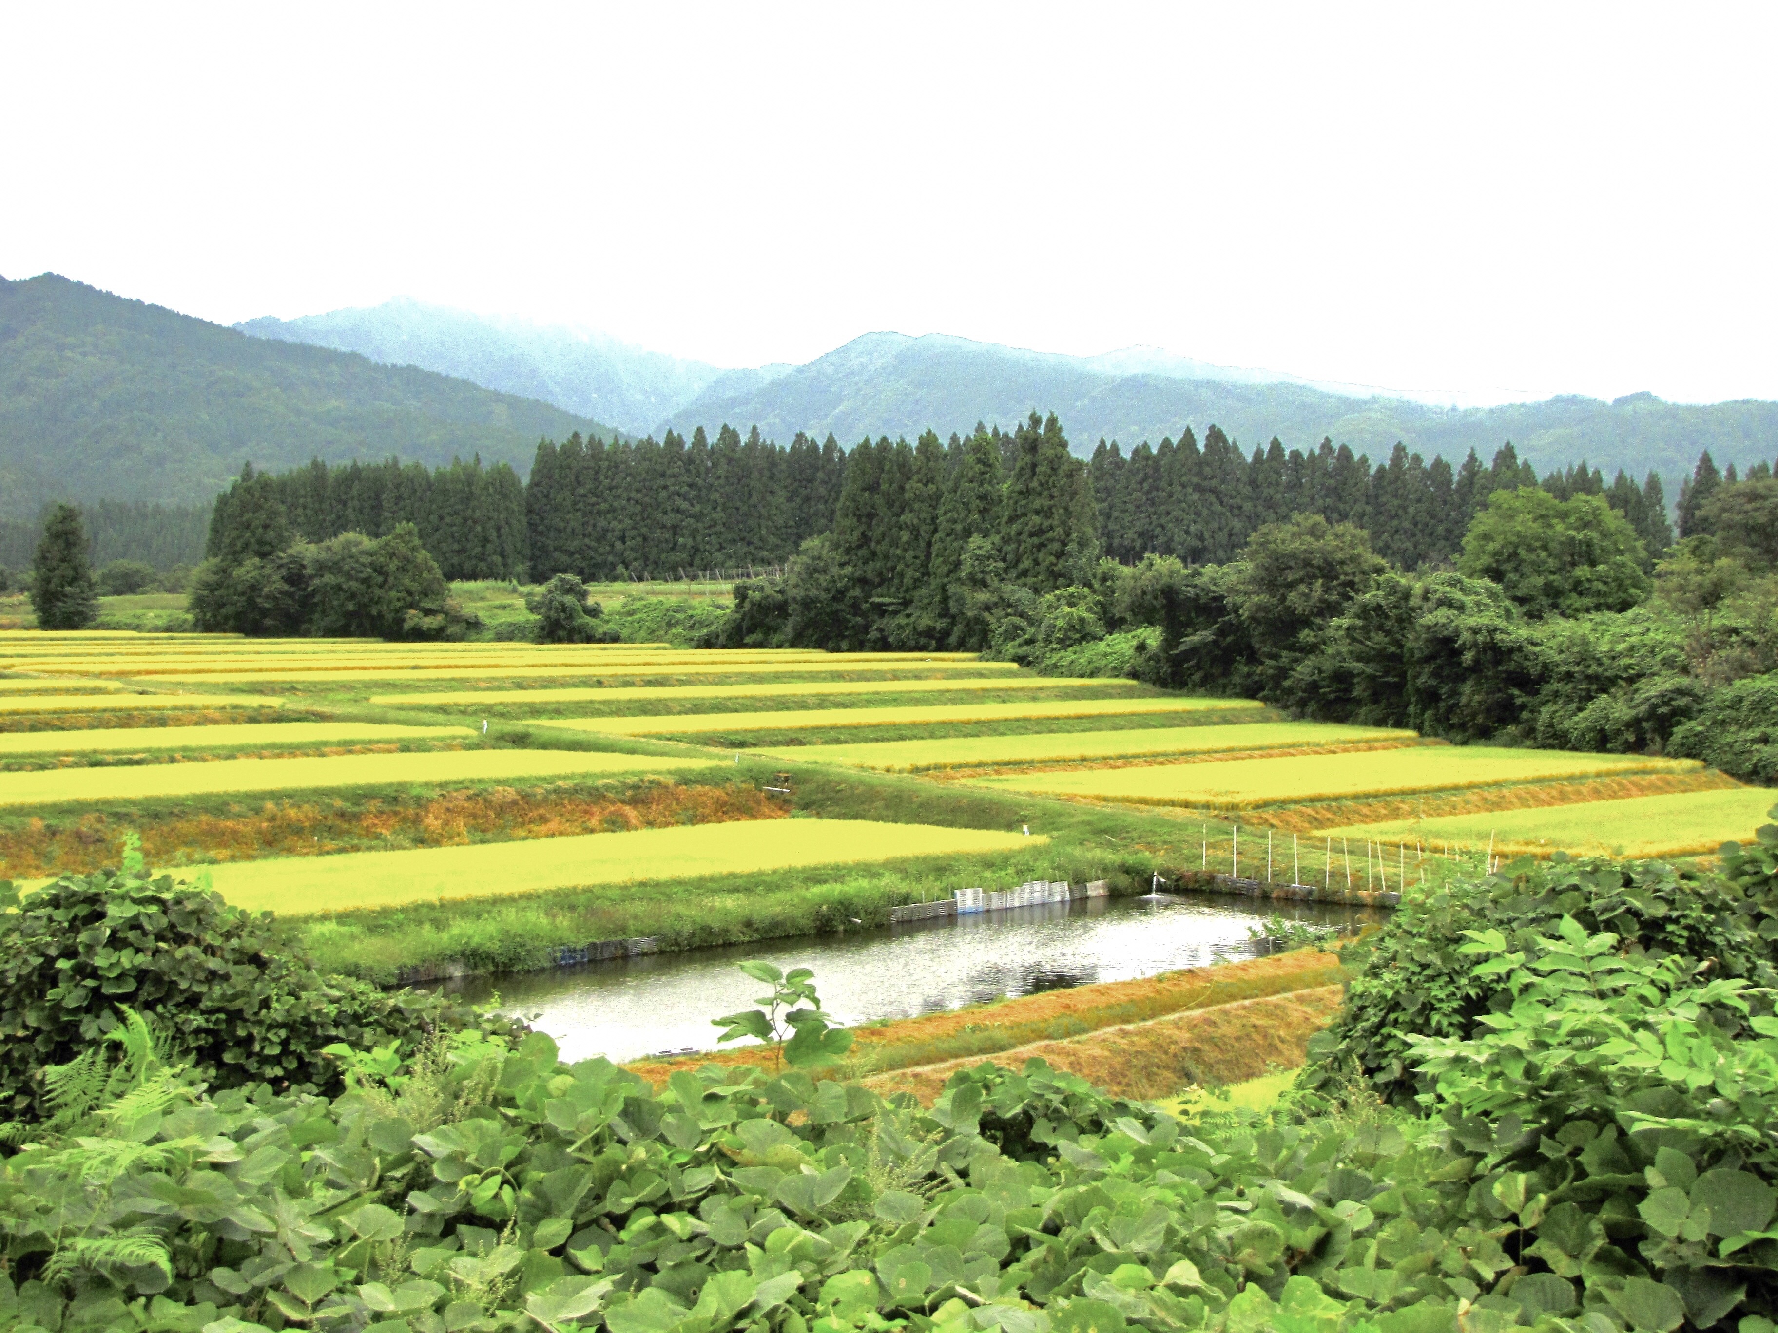
[[[1609,403],[1566,395],[1506,407],[1437,407],[1360,393],[1149,348],[1067,357],[941,334],[875,332],[761,386],[711,382],[663,427],[757,425],[779,441],[798,430],[816,439],[834,432],[850,448],[866,435],[914,439],[928,427],[941,435],[967,432],[976,421],[1010,427],[1035,409],[1056,412],[1081,455],[1101,439],[1127,451],[1140,441],[1179,439],[1186,427],[1202,439],[1205,427],[1220,425],[1246,450],[1273,435],[1305,450],[1332,437],[1371,459],[1387,457],[1401,441],[1428,459],[1458,460],[1476,450],[1486,462],[1511,441],[1540,469],[1584,459],[1604,467],[1607,480],[1618,467],[1638,478],[1650,469],[1677,478],[1691,473],[1700,450],[1710,450],[1718,466],[1742,467],[1778,455],[1778,403],[1751,398],[1698,407],[1648,393]]]

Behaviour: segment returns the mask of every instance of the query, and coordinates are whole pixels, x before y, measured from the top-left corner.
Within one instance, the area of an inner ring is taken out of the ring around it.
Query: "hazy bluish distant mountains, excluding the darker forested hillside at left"
[[[1565,395],[1447,407],[1140,347],[1070,357],[944,334],[871,332],[804,366],[722,371],[596,334],[412,300],[235,327],[391,363],[409,359],[487,387],[533,393],[637,435],[669,428],[688,435],[695,427],[715,432],[731,423],[757,425],[781,443],[798,430],[816,439],[832,432],[850,446],[866,435],[912,439],[926,428],[1012,425],[1037,409],[1056,412],[1083,455],[1101,439],[1129,448],[1177,439],[1188,427],[1202,439],[1209,425],[1246,448],[1273,435],[1287,448],[1332,437],[1373,459],[1399,441],[1428,459],[1476,450],[1486,462],[1511,441],[1545,471],[1584,459],[1607,476],[1618,467],[1636,478],[1655,471],[1670,483],[1693,469],[1702,450],[1719,466],[1778,455],[1778,403],[1762,400],[1693,405],[1634,393],[1609,403]]]

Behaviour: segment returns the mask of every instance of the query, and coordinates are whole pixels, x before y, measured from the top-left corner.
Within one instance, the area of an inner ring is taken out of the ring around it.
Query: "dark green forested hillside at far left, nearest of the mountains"
[[[247,338],[53,274],[0,279],[0,519],[46,499],[208,503],[244,462],[530,464],[597,423],[421,370]],[[608,434],[608,432],[605,432]]]

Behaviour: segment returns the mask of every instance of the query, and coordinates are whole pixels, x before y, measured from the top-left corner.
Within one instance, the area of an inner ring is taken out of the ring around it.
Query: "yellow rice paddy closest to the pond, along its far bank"
[[[1012,851],[1038,842],[1035,837],[980,828],[875,819],[770,819],[530,842],[231,862],[210,867],[208,873],[217,892],[231,903],[302,915],[637,880]]]

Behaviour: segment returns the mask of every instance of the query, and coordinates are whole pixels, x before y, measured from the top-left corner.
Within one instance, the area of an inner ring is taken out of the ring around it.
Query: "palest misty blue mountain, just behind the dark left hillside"
[[[578,416],[644,434],[699,393],[720,386],[749,393],[773,370],[720,370],[647,352],[605,334],[503,320],[425,306],[405,297],[364,309],[336,309],[295,320],[270,316],[236,323],[254,338],[357,352],[386,366],[420,366],[441,375],[555,403]]]

